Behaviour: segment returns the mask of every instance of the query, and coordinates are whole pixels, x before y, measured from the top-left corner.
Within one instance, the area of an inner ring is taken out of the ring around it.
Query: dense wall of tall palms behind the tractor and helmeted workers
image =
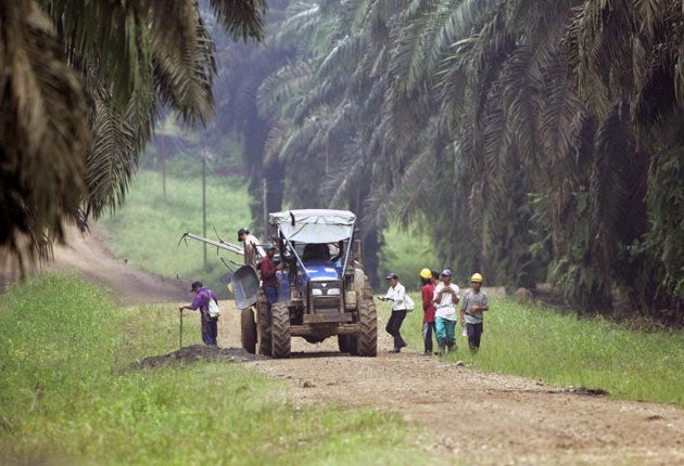
[[[463,274],[681,323],[683,24],[675,1],[291,2],[259,161],[366,234],[423,213]]]

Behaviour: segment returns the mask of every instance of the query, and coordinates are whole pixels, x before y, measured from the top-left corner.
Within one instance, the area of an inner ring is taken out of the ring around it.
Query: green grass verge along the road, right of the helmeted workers
[[[422,351],[422,308],[402,326],[410,347]],[[643,333],[604,319],[574,315],[510,299],[492,299],[480,351],[471,355],[457,326],[458,350],[451,361],[518,374],[560,387],[601,388],[618,399],[646,400],[684,407],[684,333]],[[381,305],[381,312],[389,313]]]

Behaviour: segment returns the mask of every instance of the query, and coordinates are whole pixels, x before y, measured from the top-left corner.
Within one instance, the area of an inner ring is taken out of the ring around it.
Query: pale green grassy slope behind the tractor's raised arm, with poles
[[[231,178],[207,178],[206,235],[239,244],[237,231],[250,224],[250,198],[246,187]],[[109,237],[115,255],[148,272],[186,281],[201,280],[226,296],[219,285],[228,271],[220,257],[239,264],[242,258],[232,253],[207,246],[207,268],[204,269],[203,244],[178,241],[185,232],[202,235],[202,182],[200,178],[166,177],[166,196],[162,177],[141,171],[126,197],[125,205],[98,223]]]

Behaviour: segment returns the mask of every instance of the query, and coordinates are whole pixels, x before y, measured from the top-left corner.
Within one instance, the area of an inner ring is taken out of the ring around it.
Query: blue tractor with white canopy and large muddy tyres
[[[278,300],[271,305],[259,286],[258,262],[249,260],[232,274],[241,312],[242,347],[251,353],[289,358],[292,337],[311,344],[337,336],[340,351],[377,354],[378,326],[370,282],[363,270],[356,216],[349,210],[301,209],[270,213],[269,238],[277,243]],[[236,251],[237,246],[201,240]],[[228,247],[230,246],[230,247]],[[270,325],[269,325],[270,324]]]

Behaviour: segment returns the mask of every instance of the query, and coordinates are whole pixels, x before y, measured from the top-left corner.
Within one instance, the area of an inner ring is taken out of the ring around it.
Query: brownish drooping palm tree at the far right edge
[[[598,208],[616,195],[623,207],[608,209],[613,228],[599,234],[618,235],[611,253],[630,299],[654,314],[676,310],[668,318],[681,321],[684,12],[674,1],[619,3],[584,2],[567,34],[572,83],[605,129],[601,143],[617,146],[619,157],[596,166]],[[622,179],[618,193],[609,189],[616,178]]]

